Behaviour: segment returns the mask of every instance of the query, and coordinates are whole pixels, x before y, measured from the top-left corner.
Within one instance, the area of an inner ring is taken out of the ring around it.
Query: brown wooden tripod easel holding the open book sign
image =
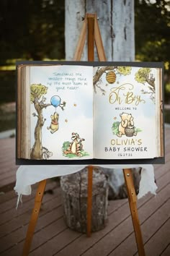
[[[84,24],[79,37],[78,46],[76,48],[75,55],[73,57],[74,61],[81,60],[81,54],[84,49],[84,43],[86,40],[86,31],[88,31],[88,61],[94,61],[94,41],[97,47],[97,54],[99,56],[99,61],[106,61],[104,54],[104,47],[102,44],[102,37],[99,31],[99,25],[97,22],[97,14],[86,14],[84,18]],[[133,227],[135,231],[135,239],[138,246],[139,256],[145,256],[145,251],[143,247],[143,239],[140,230],[140,223],[138,218],[137,210],[137,197],[135,195],[135,188],[133,184],[133,175],[130,168],[123,169],[123,174],[125,177],[125,183],[128,190],[128,200],[130,205],[130,212],[133,220]],[[88,197],[87,197],[87,226],[86,235],[91,236],[91,208],[92,208],[92,177],[93,177],[93,166],[88,166]],[[37,218],[40,212],[40,206],[42,203],[42,197],[44,195],[45,186],[47,180],[39,182],[37,193],[35,196],[35,206],[32,210],[32,216],[30,218],[30,223],[27,229],[27,236],[24,242],[24,248],[22,256],[27,256],[30,251],[32,238],[35,231],[35,226],[37,223]]]

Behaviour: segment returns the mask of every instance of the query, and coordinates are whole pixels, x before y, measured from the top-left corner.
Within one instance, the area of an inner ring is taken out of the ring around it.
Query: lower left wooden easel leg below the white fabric
[[[23,248],[23,252],[22,252],[22,256],[27,256],[29,254],[30,251],[30,247],[31,247],[31,242],[32,242],[32,237],[34,235],[34,231],[35,231],[35,226],[37,223],[37,218],[40,212],[40,207],[41,207],[41,203],[42,203],[42,197],[44,195],[44,191],[45,191],[45,186],[46,186],[47,180],[43,180],[42,182],[39,182],[39,185],[37,187],[37,193],[35,196],[35,206],[32,210],[32,216],[30,218],[30,223],[27,229],[27,236],[24,242],[24,248]]]

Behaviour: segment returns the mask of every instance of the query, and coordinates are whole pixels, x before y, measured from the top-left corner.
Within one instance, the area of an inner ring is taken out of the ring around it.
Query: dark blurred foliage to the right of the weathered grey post
[[[164,61],[165,102],[170,103],[170,1],[135,1],[135,52],[140,61]]]

